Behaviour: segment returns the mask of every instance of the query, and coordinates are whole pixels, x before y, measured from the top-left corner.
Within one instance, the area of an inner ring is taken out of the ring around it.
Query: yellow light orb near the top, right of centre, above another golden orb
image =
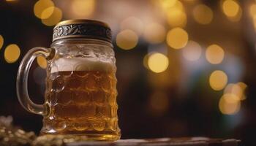
[[[184,27],[187,24],[187,15],[182,9],[171,8],[167,11],[167,23],[172,27]]]

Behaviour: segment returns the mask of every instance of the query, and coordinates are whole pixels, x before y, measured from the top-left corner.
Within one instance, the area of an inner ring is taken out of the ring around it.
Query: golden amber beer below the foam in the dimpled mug
[[[50,114],[44,118],[42,133],[118,137],[115,66],[84,62],[84,68],[89,64],[93,70],[49,74]]]

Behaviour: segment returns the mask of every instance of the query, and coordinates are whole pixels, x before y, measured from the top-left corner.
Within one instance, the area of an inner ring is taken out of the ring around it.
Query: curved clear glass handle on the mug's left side
[[[48,105],[34,104],[34,102],[31,101],[31,99],[29,98],[28,76],[31,64],[33,63],[34,59],[37,58],[37,56],[43,56],[47,60],[50,60],[54,57],[54,55],[54,49],[48,49],[45,47],[34,47],[29,50],[28,53],[26,53],[23,60],[20,62],[16,82],[17,96],[20,104],[29,112],[39,115],[48,115]]]

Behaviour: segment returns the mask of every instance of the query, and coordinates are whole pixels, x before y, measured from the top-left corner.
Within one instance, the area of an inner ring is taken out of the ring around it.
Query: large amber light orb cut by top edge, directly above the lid
[[[72,0],[71,8],[78,18],[88,18],[95,9],[95,0]]]

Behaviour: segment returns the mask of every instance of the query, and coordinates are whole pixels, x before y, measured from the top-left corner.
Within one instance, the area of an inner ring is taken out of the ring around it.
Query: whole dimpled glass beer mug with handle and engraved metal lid
[[[29,68],[47,60],[45,103],[28,94]],[[29,112],[43,116],[41,134],[120,139],[116,103],[116,58],[111,30],[96,20],[65,20],[53,28],[50,48],[34,47],[20,63],[17,93]]]

